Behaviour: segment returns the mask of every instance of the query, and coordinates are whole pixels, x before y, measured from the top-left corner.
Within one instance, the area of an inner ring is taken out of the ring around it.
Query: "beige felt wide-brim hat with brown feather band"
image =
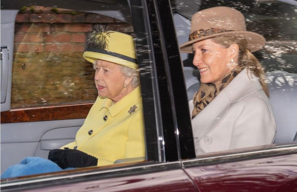
[[[248,42],[251,52],[265,45],[265,38],[247,31],[241,12],[230,7],[212,7],[195,13],[191,20],[189,41],[180,46],[181,52],[192,53],[192,44],[213,37],[238,37]]]

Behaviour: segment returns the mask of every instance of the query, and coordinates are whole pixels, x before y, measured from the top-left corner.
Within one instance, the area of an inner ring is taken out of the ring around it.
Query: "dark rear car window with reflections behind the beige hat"
[[[264,49],[255,54],[265,71],[297,73],[296,6],[281,1],[260,1],[245,15],[247,30],[261,33],[266,39]]]

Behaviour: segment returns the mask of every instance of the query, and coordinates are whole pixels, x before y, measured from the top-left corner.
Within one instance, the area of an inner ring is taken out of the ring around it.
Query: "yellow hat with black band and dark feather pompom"
[[[125,33],[109,31],[102,25],[95,25],[87,35],[83,57],[91,63],[101,59],[138,69],[133,37]]]

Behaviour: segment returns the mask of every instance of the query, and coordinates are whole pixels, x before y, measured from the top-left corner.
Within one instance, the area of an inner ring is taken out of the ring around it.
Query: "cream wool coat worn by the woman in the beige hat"
[[[193,100],[189,102],[192,114]],[[194,119],[196,155],[273,143],[272,107],[257,77],[243,69]]]

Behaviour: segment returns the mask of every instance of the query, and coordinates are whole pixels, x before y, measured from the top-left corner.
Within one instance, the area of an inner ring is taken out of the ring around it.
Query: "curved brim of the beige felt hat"
[[[259,49],[261,49],[265,45],[265,38],[258,34],[251,31],[229,31],[229,32],[222,32],[222,33],[216,33],[200,38],[193,39],[191,41],[188,41],[187,43],[182,44],[179,46],[180,51],[183,53],[192,53],[192,45],[198,41],[202,41],[204,39],[209,39],[213,37],[238,37],[241,39],[245,39],[248,42],[248,49],[251,52],[255,52]]]

